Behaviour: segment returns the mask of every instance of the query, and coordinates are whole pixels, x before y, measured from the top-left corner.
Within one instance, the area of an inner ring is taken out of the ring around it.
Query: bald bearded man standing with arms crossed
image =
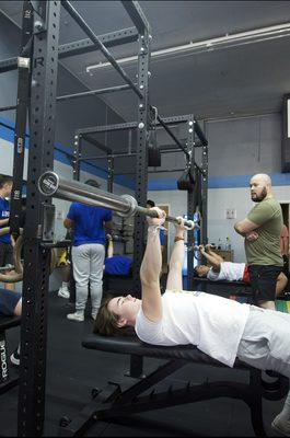
[[[270,176],[254,175],[250,182],[251,198],[256,205],[247,217],[234,224],[245,238],[245,253],[255,304],[275,310],[277,277],[283,267],[280,252],[282,210],[275,199]]]

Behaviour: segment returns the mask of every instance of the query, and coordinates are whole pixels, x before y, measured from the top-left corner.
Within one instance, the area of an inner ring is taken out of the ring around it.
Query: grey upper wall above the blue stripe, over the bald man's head
[[[205,129],[210,177],[281,172],[280,114],[211,120]]]

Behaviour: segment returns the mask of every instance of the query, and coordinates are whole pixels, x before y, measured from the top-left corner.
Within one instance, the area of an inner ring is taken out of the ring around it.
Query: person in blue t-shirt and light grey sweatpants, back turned
[[[85,184],[100,186],[94,180],[88,180]],[[112,211],[72,203],[63,224],[73,229],[71,257],[76,281],[76,312],[67,318],[79,322],[84,320],[90,283],[92,318],[95,319],[102,300],[105,235],[112,230]]]

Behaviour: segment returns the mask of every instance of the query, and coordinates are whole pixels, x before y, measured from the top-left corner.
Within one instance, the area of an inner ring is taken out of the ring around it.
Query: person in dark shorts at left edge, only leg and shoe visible
[[[21,292],[0,288],[0,318],[1,316],[21,316],[22,298]],[[20,365],[20,345],[10,356],[13,365]]]

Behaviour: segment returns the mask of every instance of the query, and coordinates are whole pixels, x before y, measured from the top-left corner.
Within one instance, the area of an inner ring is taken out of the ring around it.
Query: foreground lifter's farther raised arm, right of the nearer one
[[[175,226],[174,246],[171,253],[170,272],[167,276],[166,289],[182,290],[183,289],[183,262],[184,262],[184,219],[181,219],[181,224]]]

